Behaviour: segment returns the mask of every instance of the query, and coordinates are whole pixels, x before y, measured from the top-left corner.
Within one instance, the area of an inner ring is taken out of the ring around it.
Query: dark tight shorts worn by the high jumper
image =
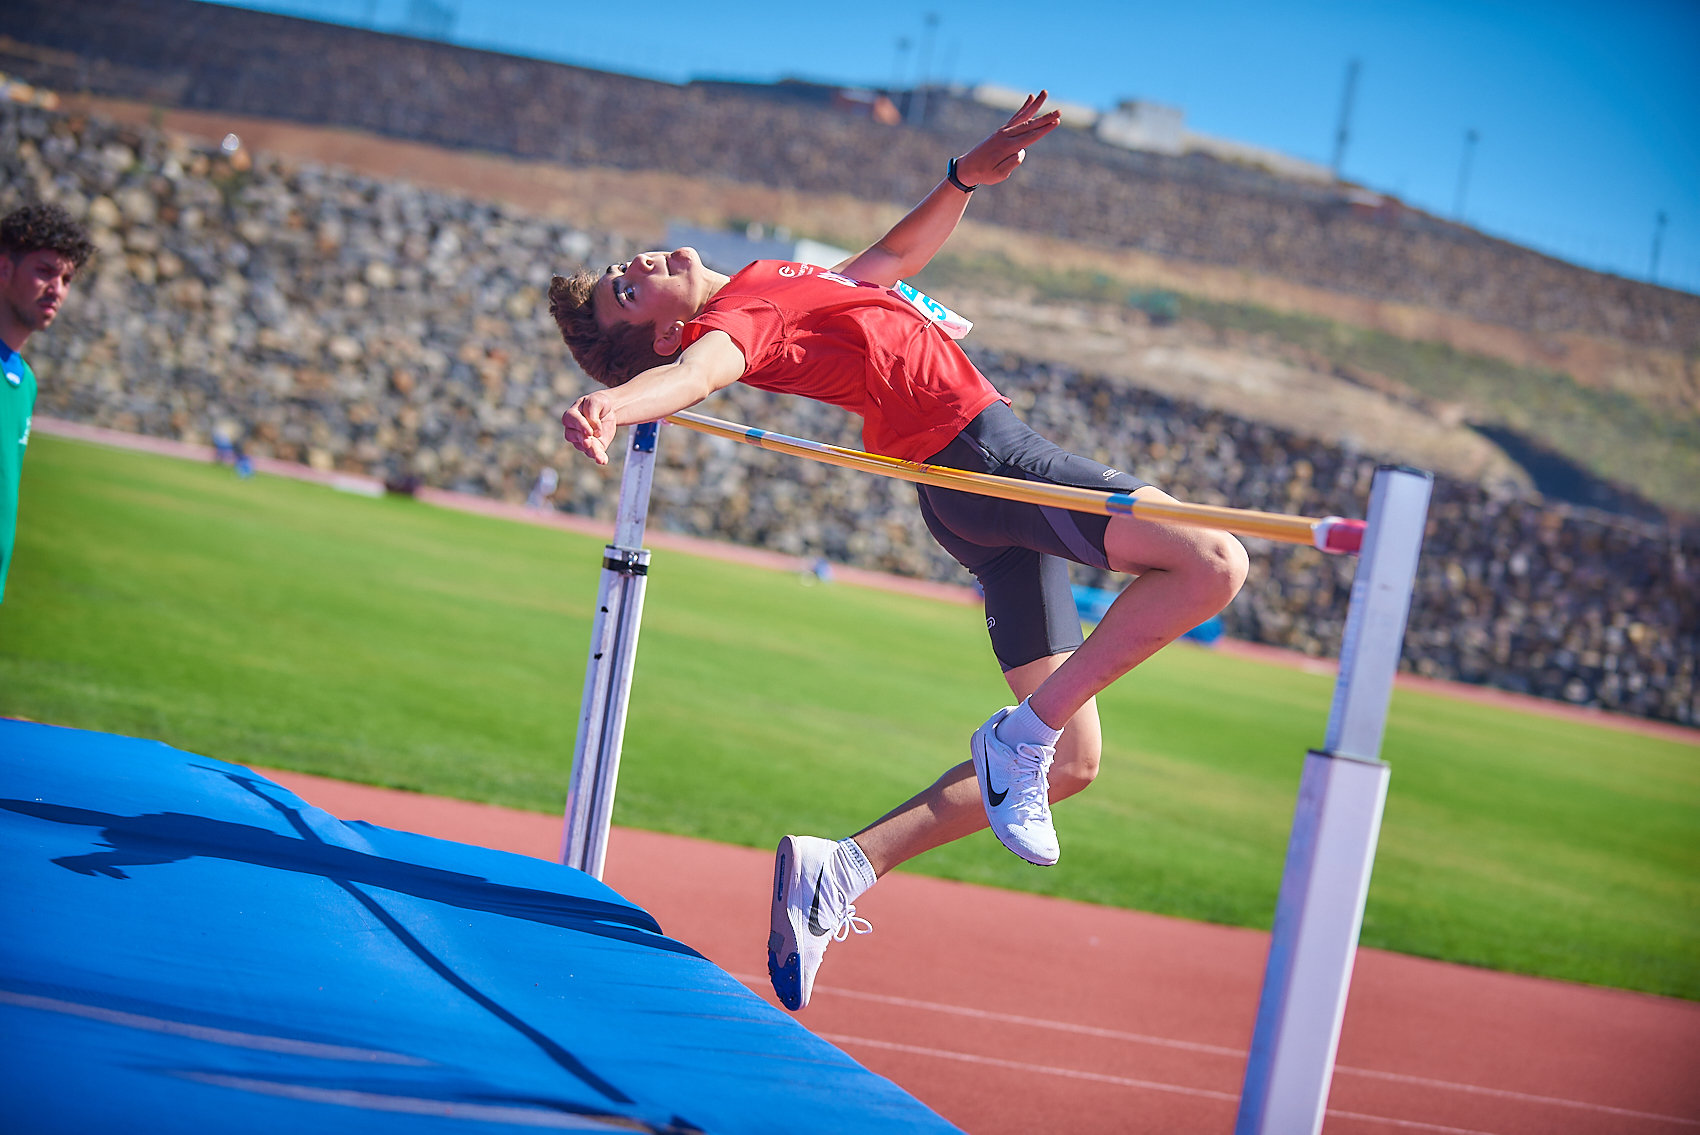
[[[1003,403],[981,411],[926,460],[969,472],[1107,493],[1132,493],[1146,484],[1047,442]],[[1108,568],[1103,551],[1108,517],[928,484],[915,488],[933,539],[974,573],[986,593],[986,630],[1003,669],[1081,644],[1080,613],[1064,561]]]

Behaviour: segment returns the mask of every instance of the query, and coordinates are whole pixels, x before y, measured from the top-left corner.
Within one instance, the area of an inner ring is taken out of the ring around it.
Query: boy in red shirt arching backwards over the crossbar
[[[894,291],[945,243],[969,195],[1006,180],[1025,148],[1056,129],[1059,114],[1040,114],[1044,100],[1028,97],[952,158],[908,216],[831,272],[765,260],[726,277],[678,248],[556,277],[551,314],[578,364],[609,387],[563,415],[566,440],[607,464],[617,426],[748,382],[860,415],[864,449],[876,454],[1173,500],[1039,437],[940,325]],[[1246,578],[1244,549],[1224,532],[916,491],[928,530],[984,590],[991,647],[1018,705],[974,731],[969,761],[853,836],[780,839],[767,963],[789,1009],[808,1004],[826,945],[869,929],[853,902],[898,863],[988,824],[1023,860],[1056,863],[1051,802],[1098,773],[1093,697],[1227,607]],[[1069,559],[1136,576],[1085,639]]]

